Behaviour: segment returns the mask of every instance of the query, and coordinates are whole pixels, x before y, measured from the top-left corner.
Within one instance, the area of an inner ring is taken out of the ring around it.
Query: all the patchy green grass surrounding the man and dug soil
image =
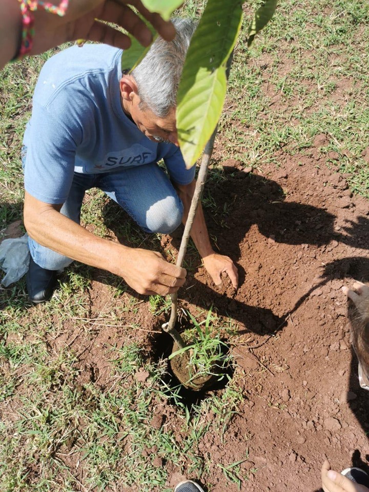
[[[258,4],[247,4],[245,27]],[[202,7],[190,0],[183,13],[196,16]],[[369,147],[368,20],[364,2],[281,0],[251,51],[243,29],[219,127],[222,160],[210,170],[208,190],[227,179],[222,166],[228,159],[257,169],[267,162],[278,166],[276,152],[309,155],[314,138],[324,133],[323,165],[347,173],[354,193],[369,197],[362,155]],[[22,135],[37,74],[53,52],[2,72],[0,234],[22,218]],[[338,160],[330,161],[329,152]],[[204,206],[220,225],[232,214],[231,198],[219,205],[207,193]],[[82,220],[101,237],[161,251],[158,236],[142,233],[95,190]],[[199,259],[190,252],[186,267],[194,270]],[[189,408],[166,383],[165,362],[153,360],[140,308],[148,303],[154,323],[167,312],[167,300],[135,296],[120,279],[80,264],[59,282],[51,301],[39,306],[29,303],[24,279],[0,288],[1,490],[120,491],[136,484],[138,491],[162,492],[172,490],[168,484],[178,471],[206,481],[211,491],[219,470],[230,488],[257,473],[237,461],[217,466],[203,447],[227,435],[243,400],[242,374],[236,371],[221,392]],[[215,321],[227,336],[236,333],[231,318]],[[167,419],[159,425],[153,416],[161,414]]]

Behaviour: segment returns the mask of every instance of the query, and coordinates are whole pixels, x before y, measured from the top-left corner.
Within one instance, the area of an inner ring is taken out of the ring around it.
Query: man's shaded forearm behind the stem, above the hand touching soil
[[[177,186],[178,195],[183,203],[183,218],[182,221],[184,224],[187,222],[187,217],[191,207],[192,197],[195,191],[196,182],[193,181],[190,185]],[[199,202],[197,207],[197,212],[192,224],[191,228],[191,238],[195,243],[197,251],[199,252],[201,258],[206,258],[207,256],[214,253],[214,250],[211,246],[208,228],[206,226],[205,218],[202,211],[201,202]]]

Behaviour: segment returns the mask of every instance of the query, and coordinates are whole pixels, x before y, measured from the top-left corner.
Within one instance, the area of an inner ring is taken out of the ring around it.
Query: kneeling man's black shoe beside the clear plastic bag
[[[27,291],[32,302],[44,302],[53,295],[56,286],[56,271],[39,267],[32,259],[27,273]]]

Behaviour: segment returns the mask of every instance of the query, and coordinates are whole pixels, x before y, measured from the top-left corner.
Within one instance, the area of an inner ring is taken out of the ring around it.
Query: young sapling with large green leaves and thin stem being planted
[[[180,0],[142,0],[151,12],[169,19],[182,2]],[[176,109],[178,141],[186,167],[191,168],[203,152],[196,189],[183,233],[177,265],[182,266],[190,237],[198,201],[206,181],[218,120],[227,91],[227,70],[230,57],[242,26],[242,0],[208,0],[198,27],[191,39],[183,66]],[[265,0],[255,12],[248,31],[248,46],[255,35],[272,18],[277,0]],[[155,32],[153,31],[154,38]],[[122,54],[122,70],[132,70],[149,48],[143,48],[131,38],[132,47]],[[205,150],[204,150],[205,149]],[[172,311],[169,323],[163,329],[170,333],[178,347],[185,342],[174,329],[177,318],[177,295],[172,294]]]

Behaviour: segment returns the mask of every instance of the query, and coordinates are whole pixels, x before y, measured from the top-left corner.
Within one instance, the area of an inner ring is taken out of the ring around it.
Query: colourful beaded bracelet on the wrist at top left
[[[25,55],[30,53],[32,49],[34,36],[33,12],[41,9],[63,17],[69,4],[69,0],[61,0],[59,5],[53,5],[50,2],[43,2],[42,0],[18,0],[18,2],[20,5],[20,13],[22,13],[22,34],[20,35],[20,46],[12,61],[22,59]]]

